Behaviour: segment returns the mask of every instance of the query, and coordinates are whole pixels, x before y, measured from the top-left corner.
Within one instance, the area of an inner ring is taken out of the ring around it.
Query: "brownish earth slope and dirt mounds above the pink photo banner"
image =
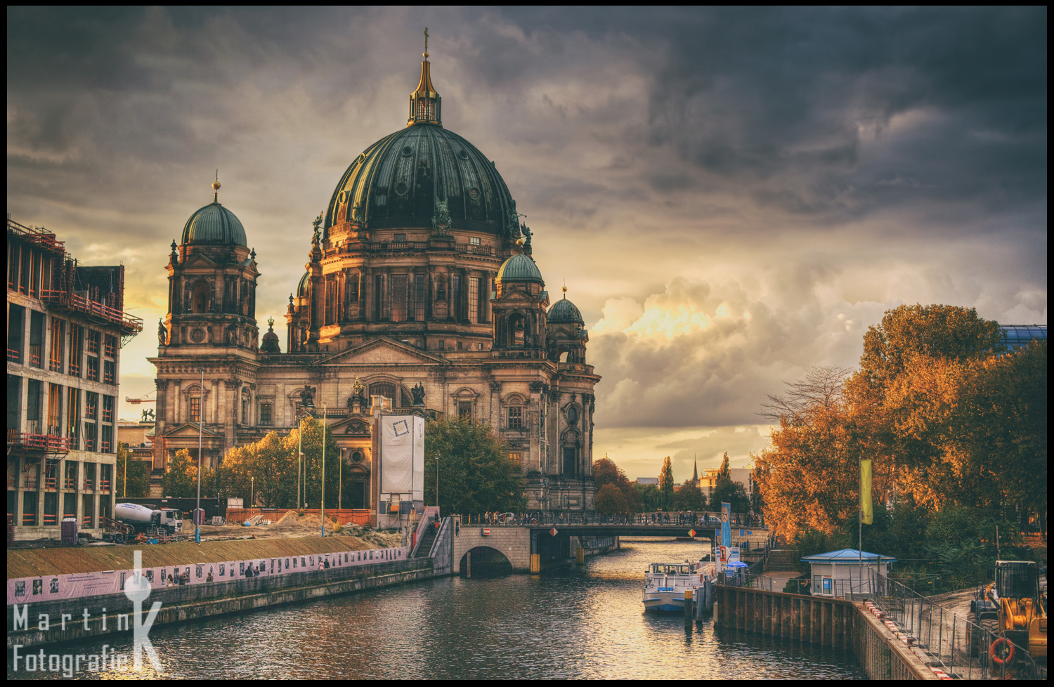
[[[365,551],[395,548],[403,537],[397,531],[376,531],[344,526],[339,529],[327,518],[326,537],[320,535],[317,514],[297,515],[290,511],[272,525],[201,527],[201,544],[194,542],[193,525],[184,522],[181,541],[169,544],[40,546],[7,551],[7,578],[48,574],[97,572],[130,569],[133,553],[142,551],[145,568],[188,563],[219,563],[246,558],[270,558],[288,555]]]

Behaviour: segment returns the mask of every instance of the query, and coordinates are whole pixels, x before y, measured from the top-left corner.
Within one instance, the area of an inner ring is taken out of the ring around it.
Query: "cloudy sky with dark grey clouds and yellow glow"
[[[764,394],[854,366],[900,303],[1047,322],[1046,8],[8,7],[7,211],[126,266],[122,396],[215,169],[279,317],[311,219],[405,124],[425,26],[445,125],[583,312],[594,451],[630,477],[744,465]]]

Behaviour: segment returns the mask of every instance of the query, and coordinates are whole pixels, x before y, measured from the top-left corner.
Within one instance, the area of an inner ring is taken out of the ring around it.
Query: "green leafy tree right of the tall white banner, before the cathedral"
[[[489,426],[455,419],[425,426],[426,505],[435,504],[436,458],[444,512],[515,512],[527,507],[524,476]]]

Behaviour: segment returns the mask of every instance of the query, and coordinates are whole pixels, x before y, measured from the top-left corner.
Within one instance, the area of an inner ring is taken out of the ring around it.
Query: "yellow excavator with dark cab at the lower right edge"
[[[1039,567],[1032,561],[996,561],[995,582],[984,588],[980,598],[970,603],[968,620],[994,636],[990,647],[983,637],[971,637],[967,630],[970,652],[988,651],[996,663],[1010,663],[1015,649],[1013,642],[1037,664],[1047,663],[1047,586],[1039,587]]]

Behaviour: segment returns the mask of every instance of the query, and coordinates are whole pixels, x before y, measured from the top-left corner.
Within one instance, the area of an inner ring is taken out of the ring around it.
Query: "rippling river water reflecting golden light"
[[[852,652],[753,634],[717,635],[643,612],[649,563],[698,558],[708,544],[630,542],[581,567],[491,580],[443,577],[150,633],[163,674],[149,679],[863,679]],[[98,653],[101,643],[47,647]],[[132,643],[118,642],[117,653]],[[54,674],[13,672],[7,678]],[[149,663],[147,664],[149,666]]]

